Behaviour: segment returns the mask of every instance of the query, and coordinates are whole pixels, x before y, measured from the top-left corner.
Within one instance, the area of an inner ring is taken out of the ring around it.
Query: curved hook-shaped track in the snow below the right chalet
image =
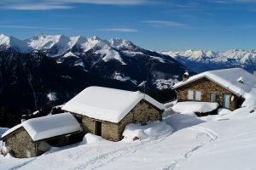
[[[189,159],[189,157],[192,156],[193,153],[196,150],[199,150],[199,149],[201,149],[201,147],[205,146],[206,144],[210,144],[213,141],[215,141],[216,139],[218,139],[218,134],[213,132],[211,129],[206,128],[206,127],[189,127],[189,129],[200,131],[201,133],[205,133],[207,135],[207,137],[209,138],[209,140],[208,141],[204,141],[203,143],[198,144],[194,148],[190,149],[187,153],[185,153],[183,158],[178,159],[177,161],[172,162],[172,164],[170,164],[170,165],[166,165],[166,166],[160,167],[158,169],[160,169],[160,170],[175,170],[175,169],[177,169],[179,167],[180,164],[182,164],[184,161]]]

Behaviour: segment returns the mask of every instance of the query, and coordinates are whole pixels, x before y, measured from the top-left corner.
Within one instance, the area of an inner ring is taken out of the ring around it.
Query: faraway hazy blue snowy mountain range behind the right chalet
[[[241,67],[247,71],[256,70],[256,50],[231,49],[224,52],[187,50],[183,52],[161,52],[177,59],[189,69],[202,72],[232,67]]]

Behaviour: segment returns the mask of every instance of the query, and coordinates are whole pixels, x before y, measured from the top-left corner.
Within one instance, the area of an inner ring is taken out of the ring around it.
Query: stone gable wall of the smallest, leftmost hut
[[[10,133],[3,141],[6,146],[11,148],[14,156],[17,158],[26,158],[29,155],[31,157],[37,156],[35,144],[32,143],[32,139],[24,127],[20,127],[14,133]]]

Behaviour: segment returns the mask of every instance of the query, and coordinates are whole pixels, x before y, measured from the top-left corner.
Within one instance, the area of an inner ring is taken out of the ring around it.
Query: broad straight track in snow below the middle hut
[[[79,169],[97,169],[99,167],[103,167],[105,165],[107,165],[110,162],[116,161],[117,159],[123,157],[123,156],[129,156],[132,153],[136,152],[137,150],[141,150],[144,147],[148,146],[148,144],[158,144],[161,141],[163,141],[164,139],[166,139],[166,137],[168,137],[168,135],[163,136],[163,138],[161,139],[151,139],[150,141],[145,141],[142,142],[140,144],[136,144],[136,145],[132,145],[131,147],[123,147],[119,150],[112,150],[108,153],[99,155],[99,156],[95,156],[93,158],[90,159],[90,161],[87,161],[81,165],[79,165],[79,167],[74,167],[72,168],[73,170],[79,170]]]

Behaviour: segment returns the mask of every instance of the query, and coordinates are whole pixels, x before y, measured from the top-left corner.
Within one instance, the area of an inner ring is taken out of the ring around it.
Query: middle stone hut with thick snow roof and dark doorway
[[[73,113],[84,132],[119,141],[129,123],[161,121],[164,105],[139,91],[89,87],[63,105],[62,110]]]

